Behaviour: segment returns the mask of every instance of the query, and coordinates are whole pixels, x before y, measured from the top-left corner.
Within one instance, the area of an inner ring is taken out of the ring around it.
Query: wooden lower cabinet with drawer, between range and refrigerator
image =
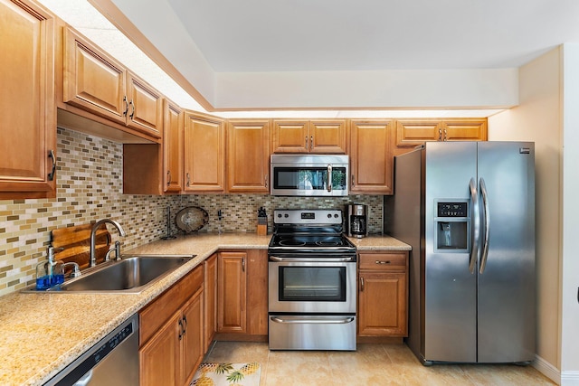
[[[407,336],[408,253],[360,253],[358,280],[358,336]]]

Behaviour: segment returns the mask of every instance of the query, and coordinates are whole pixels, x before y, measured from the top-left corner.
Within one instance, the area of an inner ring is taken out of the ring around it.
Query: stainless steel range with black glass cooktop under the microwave
[[[276,210],[269,255],[271,350],[356,350],[356,247],[339,210]]]

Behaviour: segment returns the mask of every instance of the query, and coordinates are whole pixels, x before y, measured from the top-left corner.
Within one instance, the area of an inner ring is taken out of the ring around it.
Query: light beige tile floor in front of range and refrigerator
[[[260,386],[553,385],[532,366],[435,364],[405,344],[358,344],[356,352],[270,351],[267,344],[217,342],[204,362],[261,362]]]

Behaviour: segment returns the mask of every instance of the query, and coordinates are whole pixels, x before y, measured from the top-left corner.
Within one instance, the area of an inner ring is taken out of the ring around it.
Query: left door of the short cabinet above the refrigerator
[[[419,146],[426,141],[443,139],[439,119],[398,119],[396,121],[396,146]]]

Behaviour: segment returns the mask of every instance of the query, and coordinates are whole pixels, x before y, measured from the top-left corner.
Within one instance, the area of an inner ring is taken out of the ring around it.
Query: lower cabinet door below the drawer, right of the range
[[[406,274],[360,271],[358,334],[406,336]]]

